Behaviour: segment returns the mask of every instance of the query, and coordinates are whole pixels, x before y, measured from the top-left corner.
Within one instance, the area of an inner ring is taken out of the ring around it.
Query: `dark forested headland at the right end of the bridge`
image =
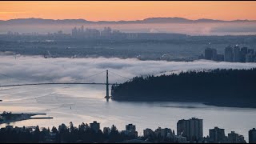
[[[203,102],[256,108],[256,69],[190,71],[136,77],[112,86],[112,99],[142,102]]]

